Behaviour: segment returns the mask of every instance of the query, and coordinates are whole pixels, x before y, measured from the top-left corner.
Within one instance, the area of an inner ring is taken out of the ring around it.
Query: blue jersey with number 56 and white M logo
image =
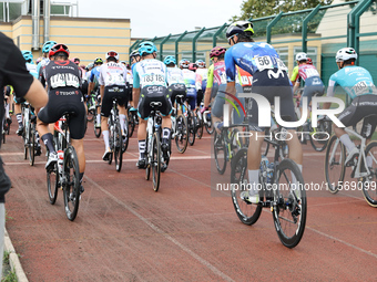
[[[241,42],[226,51],[225,69],[228,82],[236,80],[236,65],[252,75],[264,70],[281,69],[287,71],[275,49],[262,42]]]

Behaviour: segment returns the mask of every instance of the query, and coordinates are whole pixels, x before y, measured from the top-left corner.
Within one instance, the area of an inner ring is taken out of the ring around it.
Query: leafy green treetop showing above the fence
[[[279,12],[299,11],[315,8],[317,4],[330,4],[333,0],[245,0],[241,4],[241,15],[233,15],[231,21],[257,19]]]

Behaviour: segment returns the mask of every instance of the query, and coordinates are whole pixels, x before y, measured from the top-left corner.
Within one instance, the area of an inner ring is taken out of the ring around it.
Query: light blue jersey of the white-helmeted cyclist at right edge
[[[334,73],[328,81],[327,96],[334,96],[334,88],[342,86],[354,100],[366,94],[377,94],[370,73],[361,66],[349,65]]]

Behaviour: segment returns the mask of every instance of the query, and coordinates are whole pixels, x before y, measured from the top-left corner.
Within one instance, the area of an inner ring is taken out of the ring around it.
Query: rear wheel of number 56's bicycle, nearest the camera
[[[296,247],[303,238],[306,224],[306,191],[298,166],[288,158],[282,160],[277,170],[274,191],[273,218],[282,243]]]

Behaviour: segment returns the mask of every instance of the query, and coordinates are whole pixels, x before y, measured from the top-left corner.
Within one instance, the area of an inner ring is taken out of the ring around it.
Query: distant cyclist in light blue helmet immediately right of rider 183
[[[167,67],[169,96],[172,105],[176,106],[174,105],[176,95],[183,95],[182,102],[186,100],[186,86],[184,84],[182,70],[176,67],[176,61],[173,55],[166,56],[164,64]],[[177,114],[182,114],[182,109],[179,109]]]

